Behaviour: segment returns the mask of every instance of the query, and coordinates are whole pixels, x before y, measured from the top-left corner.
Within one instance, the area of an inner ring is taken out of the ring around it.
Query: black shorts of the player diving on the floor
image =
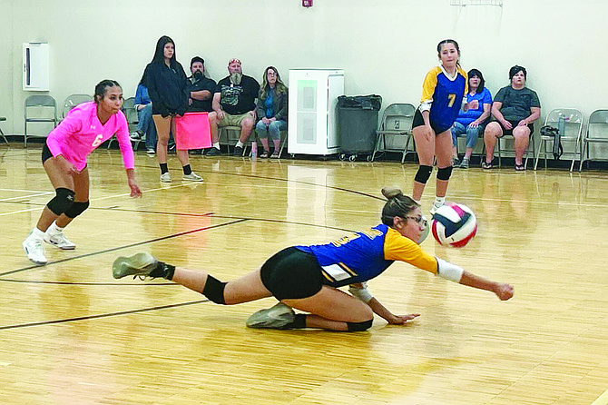
[[[278,300],[308,298],[321,291],[317,258],[294,247],[275,253],[262,266],[261,282]]]

